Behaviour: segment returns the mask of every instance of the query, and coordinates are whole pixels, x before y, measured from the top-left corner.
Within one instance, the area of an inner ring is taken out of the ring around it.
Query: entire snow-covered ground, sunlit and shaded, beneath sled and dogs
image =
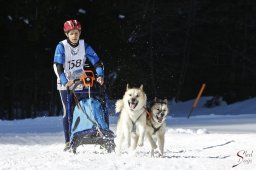
[[[205,100],[190,119],[184,116],[193,100],[170,103],[163,158],[151,158],[147,144],[135,157],[94,145],[79,147],[76,155],[63,152],[61,117],[0,121],[0,169],[254,170],[256,98],[211,109],[203,107]],[[110,119],[115,132],[117,116]]]

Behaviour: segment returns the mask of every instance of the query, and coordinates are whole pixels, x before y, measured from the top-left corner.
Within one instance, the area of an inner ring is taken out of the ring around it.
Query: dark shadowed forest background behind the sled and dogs
[[[185,101],[256,94],[256,1],[0,1],[0,119],[61,114],[53,56],[63,23],[77,19],[105,65],[110,100],[126,84]]]

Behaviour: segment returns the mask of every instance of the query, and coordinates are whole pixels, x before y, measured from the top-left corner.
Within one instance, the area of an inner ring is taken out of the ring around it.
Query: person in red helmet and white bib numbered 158
[[[70,148],[70,129],[67,115],[67,88],[72,86],[73,80],[79,78],[83,72],[86,60],[94,67],[96,81],[103,85],[104,69],[98,55],[90,45],[80,39],[81,24],[77,20],[68,20],[64,23],[64,34],[66,39],[59,42],[54,54],[54,71],[57,75],[57,89],[63,106],[63,128],[65,135],[64,151]]]

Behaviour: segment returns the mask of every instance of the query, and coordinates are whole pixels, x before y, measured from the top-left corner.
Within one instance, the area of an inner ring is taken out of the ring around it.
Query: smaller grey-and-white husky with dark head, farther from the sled
[[[165,119],[169,112],[167,99],[161,100],[155,98],[149,107],[147,117],[146,138],[151,146],[151,157],[154,157],[154,149],[160,150],[160,156],[164,153],[165,142]]]

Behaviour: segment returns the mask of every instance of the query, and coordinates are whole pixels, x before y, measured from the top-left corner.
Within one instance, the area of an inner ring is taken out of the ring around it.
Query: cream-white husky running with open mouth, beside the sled
[[[137,145],[143,146],[146,130],[146,103],[147,96],[140,88],[129,88],[122,99],[115,104],[116,113],[120,113],[116,129],[116,153],[120,155],[122,144],[126,144],[131,151],[135,151]],[[133,152],[135,153],[135,152]]]

